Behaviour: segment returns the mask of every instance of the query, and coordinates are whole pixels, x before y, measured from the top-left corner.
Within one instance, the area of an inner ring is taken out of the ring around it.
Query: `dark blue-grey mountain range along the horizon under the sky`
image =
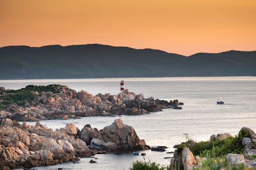
[[[100,44],[0,48],[0,79],[255,75],[256,51],[185,57],[147,48]]]

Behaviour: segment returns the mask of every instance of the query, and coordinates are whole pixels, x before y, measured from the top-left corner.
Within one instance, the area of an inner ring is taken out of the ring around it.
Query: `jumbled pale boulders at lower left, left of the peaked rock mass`
[[[1,119],[0,125],[0,169],[48,166],[95,154],[76,138],[73,124],[57,132],[39,123],[20,125],[8,118]]]

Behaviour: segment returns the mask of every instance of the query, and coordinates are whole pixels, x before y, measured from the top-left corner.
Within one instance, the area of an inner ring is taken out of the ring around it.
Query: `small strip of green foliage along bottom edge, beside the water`
[[[169,169],[169,167],[161,166],[156,162],[136,161],[136,162],[133,162],[133,167],[130,169],[131,170],[165,170],[165,169],[167,170]]]

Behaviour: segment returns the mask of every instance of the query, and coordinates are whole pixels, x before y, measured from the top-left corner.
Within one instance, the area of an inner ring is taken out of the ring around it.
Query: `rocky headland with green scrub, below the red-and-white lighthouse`
[[[0,117],[22,122],[84,116],[140,115],[166,108],[181,109],[178,100],[144,98],[127,89],[117,95],[77,92],[67,86],[29,85],[19,90],[0,87]],[[2,108],[1,108],[2,107]]]

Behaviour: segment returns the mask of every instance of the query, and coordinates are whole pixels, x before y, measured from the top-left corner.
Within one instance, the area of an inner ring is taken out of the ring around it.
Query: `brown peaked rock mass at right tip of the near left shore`
[[[150,149],[145,140],[140,140],[135,129],[123,124],[122,120],[115,122],[98,131],[86,125],[81,130],[80,138],[90,143],[90,148],[95,151],[133,151]]]

